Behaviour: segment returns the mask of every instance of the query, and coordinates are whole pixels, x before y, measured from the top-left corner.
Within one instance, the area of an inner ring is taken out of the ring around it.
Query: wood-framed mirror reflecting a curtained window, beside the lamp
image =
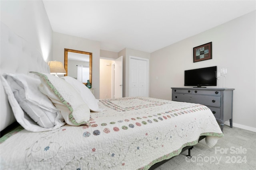
[[[83,84],[87,84],[87,80],[92,83],[92,53],[64,49],[64,68],[65,76],[76,78]]]

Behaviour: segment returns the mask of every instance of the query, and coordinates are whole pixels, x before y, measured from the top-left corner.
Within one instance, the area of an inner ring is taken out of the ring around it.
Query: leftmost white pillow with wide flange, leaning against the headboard
[[[26,74],[6,73],[1,75],[1,79],[14,117],[24,129],[34,132],[49,131],[66,124],[60,111],[39,91],[39,79]]]

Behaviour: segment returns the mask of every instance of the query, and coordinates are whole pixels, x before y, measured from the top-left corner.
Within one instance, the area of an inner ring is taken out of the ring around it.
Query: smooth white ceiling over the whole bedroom
[[[148,53],[256,10],[255,0],[43,0],[52,30]]]

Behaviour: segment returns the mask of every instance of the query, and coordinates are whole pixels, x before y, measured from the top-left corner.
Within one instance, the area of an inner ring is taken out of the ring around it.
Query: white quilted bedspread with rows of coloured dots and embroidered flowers
[[[200,104],[134,97],[99,105],[105,110],[91,112],[91,127],[12,135],[0,144],[1,169],[148,169],[202,135],[209,147],[223,136],[210,109]]]

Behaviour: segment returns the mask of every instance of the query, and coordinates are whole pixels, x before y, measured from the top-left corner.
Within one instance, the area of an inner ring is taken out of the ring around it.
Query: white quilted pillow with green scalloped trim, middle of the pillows
[[[32,72],[40,77],[39,90],[60,110],[69,125],[90,125],[90,109],[68,82],[51,74]]]

